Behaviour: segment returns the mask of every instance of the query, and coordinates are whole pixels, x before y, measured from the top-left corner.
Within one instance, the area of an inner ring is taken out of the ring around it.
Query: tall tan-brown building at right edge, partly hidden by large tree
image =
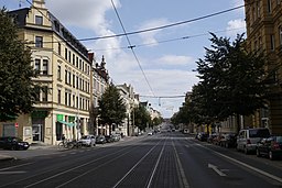
[[[245,9],[248,48],[267,54],[265,69],[271,76],[269,111],[258,111],[253,124],[282,133],[282,1],[245,0]]]

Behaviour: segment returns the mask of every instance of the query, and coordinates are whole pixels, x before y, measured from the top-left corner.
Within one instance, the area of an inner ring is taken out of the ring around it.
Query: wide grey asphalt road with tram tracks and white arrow
[[[273,188],[282,187],[282,161],[167,132],[0,163],[0,179],[13,188]]]

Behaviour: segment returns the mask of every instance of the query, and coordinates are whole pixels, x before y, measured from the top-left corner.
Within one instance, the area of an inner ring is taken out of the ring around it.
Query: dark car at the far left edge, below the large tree
[[[28,142],[23,142],[20,137],[15,136],[6,136],[0,137],[0,148],[4,150],[28,150],[30,147],[30,144]]]

